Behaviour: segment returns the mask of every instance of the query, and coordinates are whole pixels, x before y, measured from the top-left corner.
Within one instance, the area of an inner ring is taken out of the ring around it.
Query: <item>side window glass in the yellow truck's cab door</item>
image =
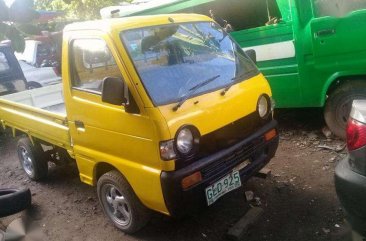
[[[106,77],[119,77],[121,73],[102,39],[76,39],[72,43],[72,87],[95,94],[102,93]]]

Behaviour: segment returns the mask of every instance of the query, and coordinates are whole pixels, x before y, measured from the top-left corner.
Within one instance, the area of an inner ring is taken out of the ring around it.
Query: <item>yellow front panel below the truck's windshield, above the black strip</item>
[[[177,103],[158,107],[166,120],[171,138],[183,125],[193,125],[201,135],[206,135],[255,112],[262,94],[272,95],[262,74],[232,86],[224,96],[220,94],[221,91],[219,89],[192,97],[177,111],[173,111]]]

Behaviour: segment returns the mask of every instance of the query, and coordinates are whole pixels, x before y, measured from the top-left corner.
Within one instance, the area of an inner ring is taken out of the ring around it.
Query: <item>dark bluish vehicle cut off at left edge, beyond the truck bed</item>
[[[26,84],[14,51],[8,45],[0,45],[0,95],[23,91]]]

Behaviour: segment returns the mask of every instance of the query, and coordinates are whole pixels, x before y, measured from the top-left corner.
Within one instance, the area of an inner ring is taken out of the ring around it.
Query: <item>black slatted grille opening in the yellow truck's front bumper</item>
[[[222,173],[226,173],[236,165],[240,164],[240,162],[247,159],[250,160],[258,149],[261,150],[264,143],[263,137],[259,137],[250,143],[240,146],[226,157],[203,168],[201,170],[202,177],[206,179],[208,177],[220,176]]]

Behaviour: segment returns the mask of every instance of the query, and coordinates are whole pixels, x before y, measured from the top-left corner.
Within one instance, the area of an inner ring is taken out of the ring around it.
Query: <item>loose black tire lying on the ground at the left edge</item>
[[[29,189],[0,189],[0,218],[16,214],[31,206]]]

